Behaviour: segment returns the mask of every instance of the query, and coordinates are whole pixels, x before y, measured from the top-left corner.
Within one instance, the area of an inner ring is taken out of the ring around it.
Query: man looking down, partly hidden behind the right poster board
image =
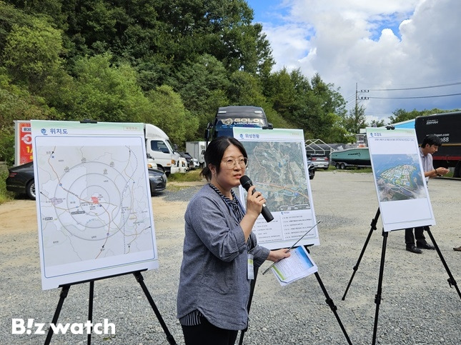
[[[437,152],[439,146],[442,145],[442,141],[435,134],[429,134],[422,139],[420,147],[420,159],[422,162],[422,169],[424,171],[426,182],[432,177],[442,176],[447,174],[449,171],[447,168],[434,169],[432,165],[432,154]],[[415,236],[413,236],[413,228],[405,229],[405,244],[407,251],[412,253],[421,254],[421,249],[435,249],[432,244],[428,244],[424,236],[425,228],[429,229],[429,226],[419,226],[415,228]],[[416,239],[416,246],[415,246]]]

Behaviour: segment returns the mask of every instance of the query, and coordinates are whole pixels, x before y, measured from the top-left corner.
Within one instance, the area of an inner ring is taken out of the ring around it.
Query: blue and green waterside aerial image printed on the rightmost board
[[[417,154],[379,154],[372,159],[380,201],[426,197]]]

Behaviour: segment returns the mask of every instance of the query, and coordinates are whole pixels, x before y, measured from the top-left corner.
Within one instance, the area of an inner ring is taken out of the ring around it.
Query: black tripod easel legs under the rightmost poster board
[[[376,230],[376,223],[378,218],[380,217],[380,208],[378,207],[375,218],[372,219],[371,223],[371,228],[370,232],[368,233],[367,239],[365,240],[365,244],[362,248],[362,251],[360,252],[359,259],[357,260],[357,264],[354,266],[354,272],[352,273],[352,276],[350,278],[349,284],[347,284],[346,291],[344,291],[344,295],[342,296],[342,300],[346,298],[347,290],[349,290],[350,284],[352,283],[352,279],[354,279],[355,272],[357,271],[360,261],[362,260],[362,256],[365,253],[365,249],[367,248],[368,241],[370,240],[370,237],[372,236],[372,231]],[[448,284],[450,287],[455,286],[455,289],[458,293],[458,296],[460,296],[461,299],[461,292],[460,289],[458,289],[458,286],[456,284],[455,278],[453,278],[450,269],[448,269],[447,263],[445,262],[445,259],[443,259],[442,253],[440,252],[439,246],[437,246],[437,243],[435,242],[434,236],[432,236],[432,233],[430,231],[429,226],[425,226],[425,231],[427,231],[427,234],[430,236],[430,240],[432,241],[432,244],[434,244],[435,249],[437,251],[438,256],[440,257],[440,260],[442,261],[443,266],[445,266],[445,270],[447,271],[447,274],[449,278],[447,279]],[[377,324],[378,324],[378,315],[380,314],[380,304],[381,304],[381,292],[382,292],[382,276],[384,273],[384,265],[385,265],[385,254],[386,254],[386,245],[387,245],[387,235],[388,232],[382,230],[382,251],[381,251],[381,263],[380,263],[380,276],[378,279],[378,288],[377,288],[377,293],[375,295],[375,304],[376,304],[376,311],[375,311],[375,325],[373,327],[373,341],[372,344],[376,344],[376,333],[377,333]]]

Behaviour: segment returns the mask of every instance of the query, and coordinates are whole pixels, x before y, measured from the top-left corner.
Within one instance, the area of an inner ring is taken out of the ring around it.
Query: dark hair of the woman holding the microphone
[[[242,152],[242,155],[248,158],[247,151],[240,141],[232,138],[232,136],[218,136],[208,144],[207,150],[205,150],[205,167],[202,169],[200,175],[204,176],[208,181],[212,179],[212,171],[208,167],[209,164],[216,166],[216,172],[219,173],[222,156],[224,156],[224,151],[226,151],[230,145],[237,146],[240,152]]]

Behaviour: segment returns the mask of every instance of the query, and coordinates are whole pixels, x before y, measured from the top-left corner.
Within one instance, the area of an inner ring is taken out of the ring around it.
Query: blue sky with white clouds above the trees
[[[357,84],[358,98],[368,97],[359,104],[369,120],[397,109],[461,109],[461,95],[440,96],[461,94],[459,0],[247,3],[271,44],[275,70],[319,73],[339,88],[347,109],[355,106]]]

